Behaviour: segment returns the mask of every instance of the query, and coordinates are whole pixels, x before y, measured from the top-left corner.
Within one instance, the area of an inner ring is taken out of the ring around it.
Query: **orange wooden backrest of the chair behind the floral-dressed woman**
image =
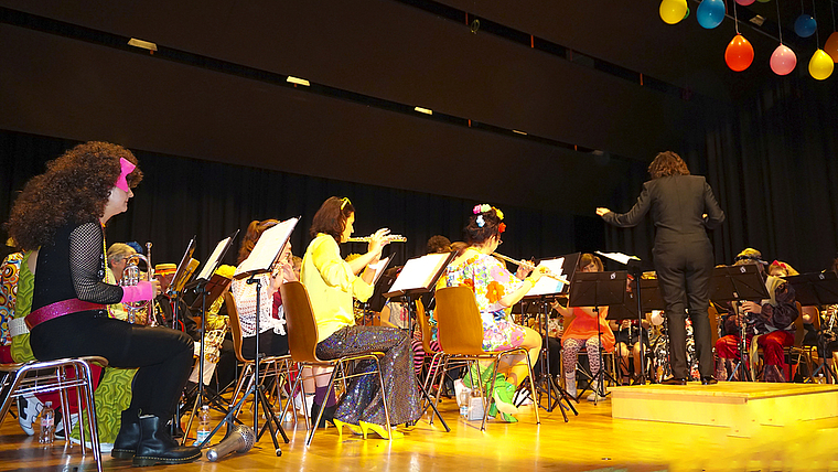
[[[437,336],[449,354],[483,354],[483,322],[469,287],[437,290]]]

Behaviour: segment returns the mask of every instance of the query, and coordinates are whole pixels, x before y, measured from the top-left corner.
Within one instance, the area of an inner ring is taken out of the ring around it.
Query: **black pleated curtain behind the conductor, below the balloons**
[[[711,234],[717,264],[745,247],[801,272],[820,271],[836,257],[838,230],[838,86],[808,74],[774,77],[734,105],[709,104],[684,122],[681,149],[690,171],[708,178],[727,221]],[[626,212],[645,172],[627,176],[614,196]],[[634,192],[633,194],[628,194]],[[606,229],[606,247],[637,254],[652,268],[651,222]]]

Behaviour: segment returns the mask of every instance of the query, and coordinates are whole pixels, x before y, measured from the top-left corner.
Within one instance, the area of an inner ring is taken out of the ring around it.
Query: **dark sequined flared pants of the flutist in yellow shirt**
[[[384,353],[382,377],[387,394],[390,423],[416,421],[421,415],[419,390],[413,375],[413,350],[407,334],[398,328],[344,326],[318,343],[316,354],[322,360],[369,351]],[[354,374],[374,372],[375,363],[362,361]],[[341,398],[335,419],[357,425],[358,421],[386,425],[382,391],[377,375],[364,375],[351,379],[346,394]]]

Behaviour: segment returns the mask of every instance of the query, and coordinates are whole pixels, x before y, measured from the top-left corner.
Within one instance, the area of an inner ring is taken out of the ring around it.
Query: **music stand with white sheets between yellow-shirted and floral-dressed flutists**
[[[407,302],[408,318],[410,318],[410,329],[408,330],[409,339],[413,339],[413,326],[418,319],[416,313],[416,300],[422,294],[429,293],[436,287],[437,280],[439,280],[442,272],[455,256],[456,253],[434,253],[409,259],[405,264],[405,267],[401,268],[398,277],[396,277],[396,281],[390,286],[390,291],[384,294],[384,297],[388,299],[400,297]],[[413,373],[413,375],[416,375],[416,373]],[[431,400],[421,379],[417,378],[416,385],[428,401],[428,405],[433,408],[437,418],[442,421],[445,431],[450,432],[451,428],[448,427],[448,423],[442,418],[442,415],[440,415],[439,409],[437,409],[437,405]],[[433,420],[432,417],[431,420]]]

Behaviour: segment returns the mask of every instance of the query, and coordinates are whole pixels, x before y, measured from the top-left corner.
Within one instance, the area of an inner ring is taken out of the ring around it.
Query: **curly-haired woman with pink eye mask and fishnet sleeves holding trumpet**
[[[34,272],[30,344],[41,361],[103,356],[115,367],[137,368],[132,398],[121,414],[111,455],[135,465],[173,464],[201,457],[169,436],[192,366],[192,339],[163,328],[108,317],[107,305],[151,300],[159,282],[118,287],[104,281],[105,224],[128,210],[142,179],[133,154],[90,141],[47,163],[26,183],[11,211],[9,234],[31,250]]]

